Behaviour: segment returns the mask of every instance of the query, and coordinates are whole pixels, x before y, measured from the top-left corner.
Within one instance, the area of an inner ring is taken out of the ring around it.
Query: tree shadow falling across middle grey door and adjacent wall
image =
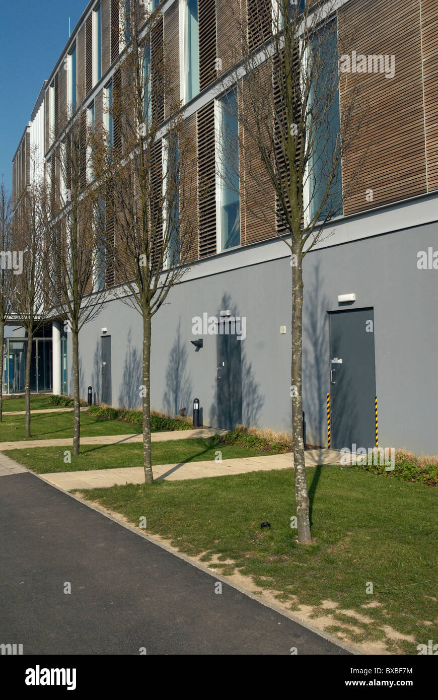
[[[232,316],[241,316],[236,304],[232,301],[232,297],[228,292],[222,295],[220,307],[216,312],[219,318],[220,309],[230,309]],[[248,328],[246,329],[248,331]],[[216,337],[217,349],[218,337]],[[244,426],[257,426],[260,418],[260,411],[264,406],[264,395],[260,392],[260,385],[255,381],[253,372],[253,363],[248,360],[246,351],[246,339],[236,341],[230,344],[228,353],[232,356],[228,358],[228,365],[231,367],[231,372],[226,375],[227,386],[221,387],[218,395],[218,380],[214,380],[213,395],[214,400],[210,407],[210,424],[217,425],[218,428],[235,427],[236,423],[241,422]],[[227,349],[225,348],[225,357],[227,357]],[[238,366],[239,365],[239,366]],[[236,386],[239,384],[239,386]],[[218,400],[229,405],[218,407]],[[239,402],[239,407],[234,407],[233,402]],[[239,417],[237,417],[239,416]],[[225,422],[224,422],[225,421]],[[224,425],[218,425],[219,422],[224,422]],[[225,425],[228,423],[228,425]]]

